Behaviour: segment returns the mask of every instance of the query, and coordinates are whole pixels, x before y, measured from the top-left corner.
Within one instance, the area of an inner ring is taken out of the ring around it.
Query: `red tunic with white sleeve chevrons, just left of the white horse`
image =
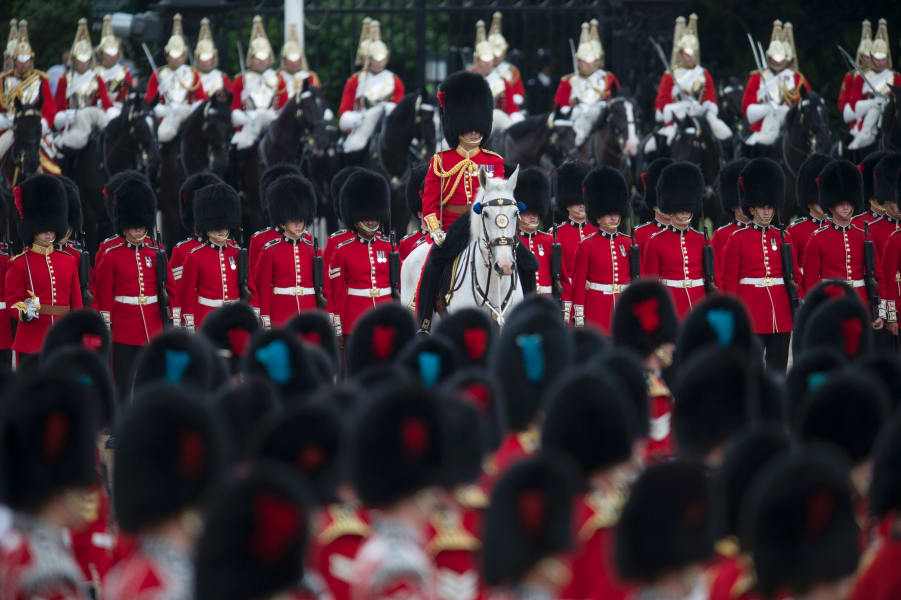
[[[354,236],[335,248],[328,267],[328,312],[341,317],[345,335],[353,334],[354,325],[364,312],[392,301],[390,254],[391,242],[378,234],[369,240]]]

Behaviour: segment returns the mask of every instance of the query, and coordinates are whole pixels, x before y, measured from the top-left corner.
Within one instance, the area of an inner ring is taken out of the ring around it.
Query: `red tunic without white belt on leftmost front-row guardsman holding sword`
[[[78,262],[65,252],[33,246],[13,258],[6,268],[7,314],[18,320],[12,349],[19,354],[41,351],[44,337],[70,310],[81,308]],[[36,319],[22,321],[29,291],[41,305]]]

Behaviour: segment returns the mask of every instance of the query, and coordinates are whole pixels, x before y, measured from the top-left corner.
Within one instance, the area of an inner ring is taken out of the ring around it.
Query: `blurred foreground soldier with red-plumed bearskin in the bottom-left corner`
[[[13,513],[0,533],[0,598],[87,600],[65,529],[80,525],[96,476],[93,406],[84,388],[49,371],[24,377],[5,399],[0,502]]]

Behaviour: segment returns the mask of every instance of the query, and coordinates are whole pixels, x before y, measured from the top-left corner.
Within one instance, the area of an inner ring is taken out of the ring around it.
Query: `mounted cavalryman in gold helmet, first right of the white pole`
[[[362,68],[344,84],[338,107],[338,128],[347,133],[344,140],[346,153],[365,148],[382,116],[389,114],[404,97],[400,77],[386,68],[388,46],[382,41],[378,21],[370,22],[368,34],[367,39],[360,40],[357,51]]]

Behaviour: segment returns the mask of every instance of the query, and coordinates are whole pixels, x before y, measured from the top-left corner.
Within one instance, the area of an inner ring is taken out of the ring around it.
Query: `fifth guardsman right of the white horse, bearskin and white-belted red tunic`
[[[707,239],[691,227],[691,219],[700,210],[703,190],[701,171],[691,163],[673,163],[661,171],[657,201],[671,223],[648,239],[641,257],[642,276],[657,277],[669,288],[680,318],[705,294],[703,249]]]

